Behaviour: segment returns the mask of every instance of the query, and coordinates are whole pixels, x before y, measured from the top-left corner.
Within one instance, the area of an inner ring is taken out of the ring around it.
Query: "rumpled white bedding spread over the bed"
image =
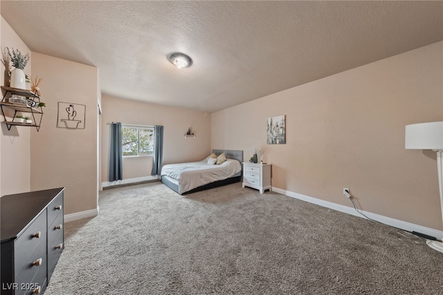
[[[220,165],[208,164],[205,161],[165,165],[161,176],[177,179],[179,194],[210,184],[211,182],[233,177],[242,171],[242,164],[234,159],[226,159]]]

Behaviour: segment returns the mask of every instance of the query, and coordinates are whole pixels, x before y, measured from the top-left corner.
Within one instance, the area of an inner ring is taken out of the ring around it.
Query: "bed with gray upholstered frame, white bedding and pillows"
[[[220,165],[199,162],[177,163],[161,168],[161,182],[179,193],[195,193],[208,188],[242,181],[242,150],[213,150],[219,156],[225,153],[226,161]]]

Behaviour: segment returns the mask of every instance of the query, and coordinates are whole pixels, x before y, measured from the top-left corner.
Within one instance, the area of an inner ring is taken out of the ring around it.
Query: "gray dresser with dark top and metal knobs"
[[[1,294],[43,294],[64,248],[64,188],[1,200]]]

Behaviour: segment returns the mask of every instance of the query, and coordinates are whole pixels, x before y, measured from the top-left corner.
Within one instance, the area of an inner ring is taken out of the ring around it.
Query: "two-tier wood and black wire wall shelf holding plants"
[[[4,94],[0,102],[0,109],[1,109],[1,114],[3,115],[3,123],[6,124],[8,130],[10,130],[12,126],[26,126],[26,127],[35,127],[38,132],[40,129],[40,125],[42,124],[42,117],[43,117],[42,107],[30,107],[29,105],[12,103],[6,100],[6,98],[9,98],[9,96],[11,96],[12,94],[17,94],[19,96],[26,97],[26,100],[28,100],[29,102],[35,102],[37,105],[39,105],[41,101],[37,93],[33,93],[32,91],[26,89],[17,89],[6,86],[2,86],[1,90],[4,92]],[[14,111],[14,115],[12,116],[11,120],[8,120],[6,118],[5,114],[6,109]],[[32,117],[33,119],[33,123],[12,122],[13,118],[17,115],[17,112],[30,114],[30,117]]]

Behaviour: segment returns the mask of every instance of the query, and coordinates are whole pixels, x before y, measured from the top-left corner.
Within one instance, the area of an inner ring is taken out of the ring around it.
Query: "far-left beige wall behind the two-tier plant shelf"
[[[20,39],[9,24],[1,17],[1,48],[16,48],[22,54],[30,50]],[[13,68],[12,68],[13,69]],[[31,62],[24,69],[30,75]],[[5,77],[5,67],[0,63],[0,84],[9,85],[8,76]],[[28,89],[30,87],[27,84]],[[3,97],[3,93],[2,93]],[[7,111],[8,120],[14,116],[14,111]],[[25,115],[26,116],[26,115]],[[1,116],[3,121],[3,116]],[[1,124],[0,136],[0,195],[28,192],[30,190],[30,132],[34,127],[12,126],[10,130],[5,124]]]

